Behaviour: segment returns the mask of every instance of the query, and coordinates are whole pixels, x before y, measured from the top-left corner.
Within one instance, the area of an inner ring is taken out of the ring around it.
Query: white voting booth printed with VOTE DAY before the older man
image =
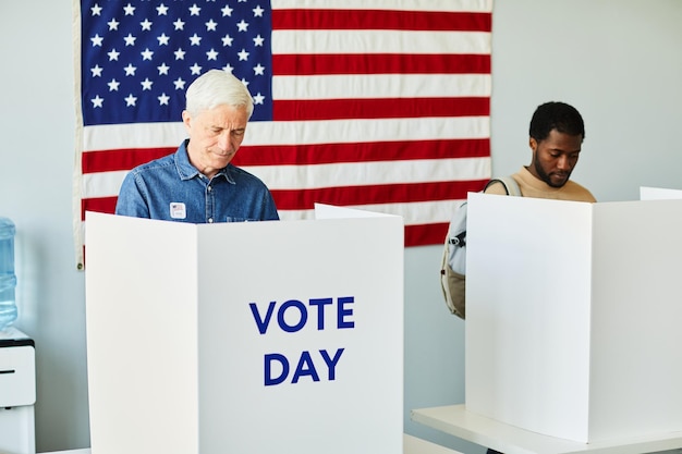
[[[403,223],[87,213],[93,454],[402,453]]]

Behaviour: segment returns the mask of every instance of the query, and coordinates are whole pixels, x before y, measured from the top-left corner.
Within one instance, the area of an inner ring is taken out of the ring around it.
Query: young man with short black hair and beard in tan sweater
[[[531,164],[512,175],[524,197],[596,201],[589,191],[570,180],[577,163],[585,125],[580,112],[564,102],[539,106],[529,128],[533,150]],[[504,186],[494,183],[486,194],[504,195]]]

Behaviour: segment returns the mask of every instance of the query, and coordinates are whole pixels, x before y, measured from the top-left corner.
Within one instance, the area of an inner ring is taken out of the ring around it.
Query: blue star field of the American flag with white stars
[[[252,87],[258,109],[268,105],[270,95],[261,84],[270,68],[258,52],[269,46],[269,35],[260,33],[256,27],[259,23],[252,24],[268,14],[259,2],[246,1],[242,7],[243,1],[236,0],[173,0],[183,3],[178,11],[169,0],[157,0],[143,9],[133,0],[124,0],[115,11],[108,11],[110,1],[93,0],[87,7],[93,21],[98,21],[98,27],[83,39],[87,51],[99,59],[94,60],[98,65],[83,69],[93,81],[90,95],[83,98],[90,112],[103,115],[118,108],[132,114],[147,102],[166,112],[174,108],[176,97],[196,76],[207,68],[220,66],[239,73],[244,86]]]

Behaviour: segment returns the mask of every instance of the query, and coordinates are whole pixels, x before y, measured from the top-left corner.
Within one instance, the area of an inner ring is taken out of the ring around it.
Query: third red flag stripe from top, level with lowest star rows
[[[275,100],[276,121],[329,119],[410,119],[424,116],[487,116],[489,98],[389,98]],[[418,120],[415,120],[418,121]]]

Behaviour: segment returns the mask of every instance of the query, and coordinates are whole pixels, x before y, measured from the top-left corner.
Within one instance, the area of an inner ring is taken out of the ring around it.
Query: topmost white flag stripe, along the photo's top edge
[[[270,0],[270,4],[273,10],[492,11],[492,0]]]

